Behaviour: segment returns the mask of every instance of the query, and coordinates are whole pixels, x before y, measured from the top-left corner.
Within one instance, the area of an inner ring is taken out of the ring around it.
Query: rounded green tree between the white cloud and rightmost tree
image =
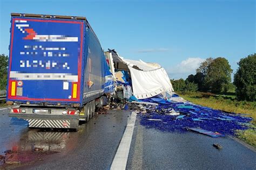
[[[227,59],[219,57],[212,60],[204,78],[205,86],[218,93],[227,90],[225,87],[231,83],[232,71]]]

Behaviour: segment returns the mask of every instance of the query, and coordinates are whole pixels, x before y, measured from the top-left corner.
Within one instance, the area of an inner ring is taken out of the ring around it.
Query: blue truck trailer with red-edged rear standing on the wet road
[[[111,73],[85,17],[11,13],[6,103],[29,127],[77,129],[89,121]]]

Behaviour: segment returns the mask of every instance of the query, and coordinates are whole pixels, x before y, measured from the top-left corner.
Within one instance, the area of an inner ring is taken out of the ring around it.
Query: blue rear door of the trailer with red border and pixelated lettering
[[[12,17],[8,100],[79,102],[84,21]]]

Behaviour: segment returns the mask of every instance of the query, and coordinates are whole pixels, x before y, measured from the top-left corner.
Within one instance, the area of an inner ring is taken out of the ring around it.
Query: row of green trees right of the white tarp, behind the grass
[[[256,53],[240,59],[231,82],[231,69],[225,58],[207,58],[186,80],[171,80],[175,91],[226,93],[235,89],[238,100],[256,101]]]

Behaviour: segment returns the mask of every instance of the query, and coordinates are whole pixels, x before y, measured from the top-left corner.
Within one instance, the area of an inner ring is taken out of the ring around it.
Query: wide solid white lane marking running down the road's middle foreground
[[[132,134],[134,130],[134,124],[136,121],[136,112],[132,112],[130,119],[128,119],[124,135],[118,146],[117,153],[114,156],[114,160],[111,165],[111,170],[125,169],[127,164],[127,159],[129,156],[129,151],[131,147]]]

